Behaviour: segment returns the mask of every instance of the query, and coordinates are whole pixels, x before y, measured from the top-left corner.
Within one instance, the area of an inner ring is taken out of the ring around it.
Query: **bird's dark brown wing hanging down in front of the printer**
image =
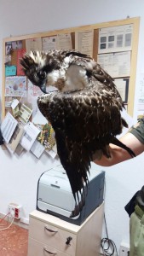
[[[60,162],[77,201],[72,216],[78,215],[84,205],[84,184],[88,184],[93,154],[101,150],[110,157],[108,144],[120,143],[115,136],[126,123],[121,118],[122,106],[117,96],[116,92],[106,90],[105,84],[96,81],[84,90],[56,92],[37,100],[38,108],[55,130]]]

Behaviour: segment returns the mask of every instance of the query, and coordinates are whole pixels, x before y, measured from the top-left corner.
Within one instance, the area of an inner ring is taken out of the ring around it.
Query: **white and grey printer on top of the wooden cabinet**
[[[37,210],[62,218],[72,224],[82,224],[96,207],[103,201],[104,171],[96,171],[95,163],[91,162],[88,194],[80,214],[70,218],[75,207],[72,189],[66,171],[59,165],[43,172],[37,183]]]

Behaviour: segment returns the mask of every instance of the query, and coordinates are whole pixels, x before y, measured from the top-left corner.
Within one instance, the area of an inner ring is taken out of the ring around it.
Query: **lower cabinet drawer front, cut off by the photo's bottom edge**
[[[49,247],[48,245],[44,245],[41,242],[38,242],[32,238],[29,238],[27,256],[68,256],[68,255],[71,255],[71,254],[62,253],[53,247]]]

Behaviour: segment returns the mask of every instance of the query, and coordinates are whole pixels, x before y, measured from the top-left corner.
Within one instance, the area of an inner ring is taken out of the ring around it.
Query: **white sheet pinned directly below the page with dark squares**
[[[130,51],[97,55],[97,62],[112,76],[130,77]]]

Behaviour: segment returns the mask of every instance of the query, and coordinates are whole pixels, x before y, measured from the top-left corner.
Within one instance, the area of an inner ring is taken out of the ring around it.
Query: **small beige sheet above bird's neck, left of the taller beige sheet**
[[[72,49],[71,34],[59,34],[57,35],[57,47],[58,49]]]

